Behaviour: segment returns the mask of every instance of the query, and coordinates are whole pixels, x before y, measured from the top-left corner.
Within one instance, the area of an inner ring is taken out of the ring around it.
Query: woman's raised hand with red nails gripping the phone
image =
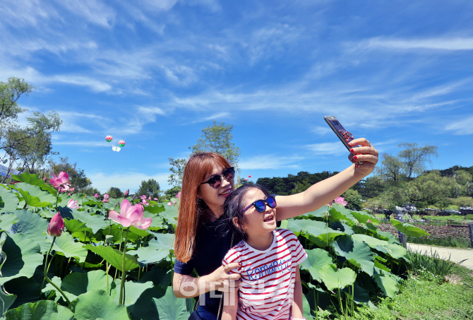
[[[350,141],[349,146],[360,146],[352,148],[348,160],[355,164],[355,173],[366,177],[373,172],[378,163],[378,150],[376,150],[366,138],[358,138]]]

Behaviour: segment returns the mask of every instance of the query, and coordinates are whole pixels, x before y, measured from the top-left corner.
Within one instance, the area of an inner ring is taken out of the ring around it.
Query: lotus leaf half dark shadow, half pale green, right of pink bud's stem
[[[109,292],[115,294],[116,285],[112,275],[108,275]],[[107,291],[107,273],[103,270],[89,271],[86,273],[73,272],[64,277],[61,282],[61,290],[67,295],[70,301],[75,300],[79,295],[90,290]]]

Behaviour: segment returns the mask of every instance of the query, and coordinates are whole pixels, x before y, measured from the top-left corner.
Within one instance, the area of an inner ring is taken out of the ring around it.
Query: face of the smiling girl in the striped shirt
[[[245,206],[250,206],[251,203],[258,200],[266,200],[267,196],[260,189],[251,188],[245,195]],[[270,208],[266,205],[266,210],[258,212],[254,206],[251,206],[244,212],[244,226],[243,229],[246,235],[251,239],[253,237],[263,237],[269,232],[276,230],[276,208]]]

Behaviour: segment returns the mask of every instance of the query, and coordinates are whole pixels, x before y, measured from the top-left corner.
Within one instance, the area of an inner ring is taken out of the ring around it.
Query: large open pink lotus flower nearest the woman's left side
[[[120,213],[111,210],[109,211],[109,218],[124,227],[133,226],[141,230],[148,229],[152,222],[152,218],[144,218],[141,203],[131,206],[130,201],[126,199],[121,201]]]

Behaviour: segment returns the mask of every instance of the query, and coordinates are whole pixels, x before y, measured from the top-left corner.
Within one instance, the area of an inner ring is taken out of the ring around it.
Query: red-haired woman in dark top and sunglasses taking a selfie
[[[333,201],[353,184],[370,174],[378,162],[378,151],[365,138],[349,143],[356,163],[309,189],[291,196],[277,196],[277,220],[315,211]],[[234,170],[216,153],[198,153],[187,162],[182,179],[181,203],[177,218],[173,290],[176,297],[200,296],[198,315],[217,319],[221,292],[239,286],[240,276],[229,275],[238,263],[222,266],[227,251],[241,239],[230,232],[220,235],[225,198],[234,191]],[[198,278],[191,275],[196,270]],[[219,290],[220,292],[215,292]]]

